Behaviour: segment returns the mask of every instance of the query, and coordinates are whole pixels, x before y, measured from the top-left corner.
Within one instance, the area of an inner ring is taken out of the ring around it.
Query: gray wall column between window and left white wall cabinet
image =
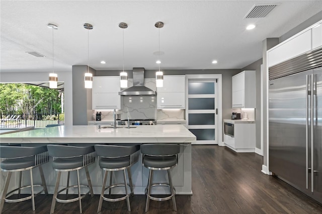
[[[84,75],[87,65],[73,65],[72,73],[72,125],[88,125],[92,115],[92,89],[85,88]],[[90,73],[96,71],[90,67]]]

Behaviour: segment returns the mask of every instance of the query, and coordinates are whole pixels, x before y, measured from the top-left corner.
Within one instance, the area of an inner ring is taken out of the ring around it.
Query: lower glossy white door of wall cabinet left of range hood
[[[93,110],[121,109],[118,93],[93,93]]]

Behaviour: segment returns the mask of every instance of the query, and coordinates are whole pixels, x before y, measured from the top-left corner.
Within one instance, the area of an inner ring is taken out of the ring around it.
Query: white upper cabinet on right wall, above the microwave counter
[[[232,108],[256,108],[256,71],[232,76]]]

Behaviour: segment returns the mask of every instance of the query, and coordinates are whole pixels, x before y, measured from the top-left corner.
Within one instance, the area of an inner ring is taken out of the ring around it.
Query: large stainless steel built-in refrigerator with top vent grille
[[[322,203],[322,48],[269,78],[269,170]]]

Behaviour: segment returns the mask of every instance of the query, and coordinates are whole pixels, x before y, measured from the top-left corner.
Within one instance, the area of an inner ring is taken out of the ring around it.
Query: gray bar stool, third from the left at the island
[[[104,172],[104,180],[102,184],[102,192],[99,202],[99,207],[97,212],[102,210],[103,199],[106,201],[120,201],[127,200],[127,209],[131,211],[130,208],[130,199],[129,196],[133,195],[133,184],[132,184],[132,176],[130,167],[138,161],[138,157],[140,154],[140,146],[116,146],[116,145],[95,145],[96,154],[99,156],[99,165],[105,171]],[[124,183],[118,183],[112,185],[112,175],[113,171],[123,170],[124,175]],[[127,170],[129,184],[126,181],[126,173]],[[110,185],[106,187],[106,180],[108,172],[110,173]],[[111,189],[117,186],[125,187],[125,196],[118,198],[110,198],[105,197],[104,192],[106,189],[109,189],[109,194],[111,195]],[[128,193],[127,187],[130,186],[131,192]]]

